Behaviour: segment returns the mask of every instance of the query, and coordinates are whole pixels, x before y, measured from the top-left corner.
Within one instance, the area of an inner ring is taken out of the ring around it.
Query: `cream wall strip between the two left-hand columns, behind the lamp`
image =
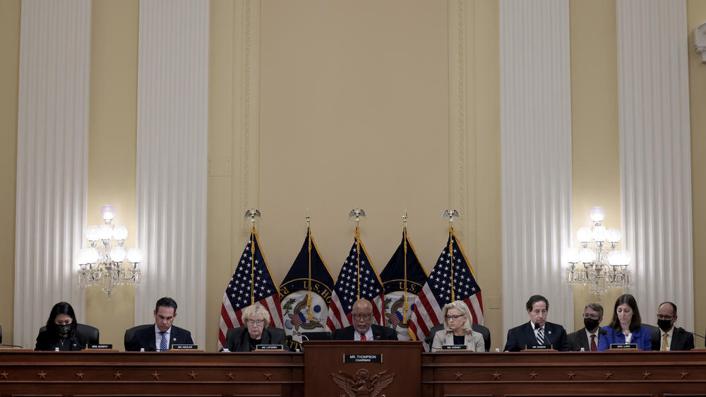
[[[88,225],[102,223],[100,208],[112,204],[113,224],[130,233],[127,247],[136,241],[138,11],[137,0],[96,0],[91,15]],[[134,323],[134,294],[128,286],[117,288],[112,299],[99,287],[86,291],[85,322],[100,329],[101,343],[124,348],[124,331]],[[152,304],[145,302],[143,310],[151,312]]]

